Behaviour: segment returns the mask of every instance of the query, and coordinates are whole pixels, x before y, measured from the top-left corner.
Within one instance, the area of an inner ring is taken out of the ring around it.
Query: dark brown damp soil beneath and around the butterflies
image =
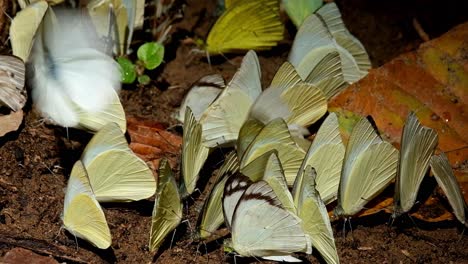
[[[229,80],[241,55],[211,58],[192,53],[189,38],[205,37],[215,21],[216,1],[186,1],[184,18],[174,24],[166,45],[165,63],[148,86],[125,87],[121,99],[128,116],[176,124],[172,112],[191,84],[219,73]],[[349,30],[364,44],[373,66],[416,49],[422,40],[413,27],[417,19],[431,38],[468,19],[465,1],[342,0],[337,1]],[[270,51],[259,52],[262,83],[266,87],[286,59],[295,34]],[[30,104],[29,104],[30,105]],[[223,239],[198,242],[193,235],[212,171],[219,166],[217,150],[202,172],[199,193],[184,202],[186,221],[166,239],[157,253],[148,251],[152,201],[105,204],[112,247],[98,250],[62,228],[64,188],[72,167],[90,135],[44,124],[26,107],[17,132],[0,138],[0,257],[14,247],[30,249],[67,263],[255,263],[223,251]],[[389,226],[390,215],[352,219],[352,226],[332,224],[342,263],[468,263],[468,237],[454,221],[425,223],[403,218]],[[346,230],[346,232],[343,232]],[[352,230],[352,231],[351,231]],[[466,232],[465,232],[466,233]],[[306,263],[320,263],[318,254],[297,255]]]

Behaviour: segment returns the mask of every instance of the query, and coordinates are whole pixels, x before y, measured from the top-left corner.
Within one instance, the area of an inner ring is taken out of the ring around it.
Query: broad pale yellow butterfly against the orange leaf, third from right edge
[[[366,118],[354,126],[338,186],[336,216],[352,216],[394,179],[398,150],[383,141]]]

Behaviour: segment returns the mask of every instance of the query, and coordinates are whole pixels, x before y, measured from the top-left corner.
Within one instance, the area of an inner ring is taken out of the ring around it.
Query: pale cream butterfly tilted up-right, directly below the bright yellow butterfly
[[[232,80],[200,117],[203,144],[213,148],[237,140],[250,107],[262,91],[260,76],[258,57],[249,51]]]

